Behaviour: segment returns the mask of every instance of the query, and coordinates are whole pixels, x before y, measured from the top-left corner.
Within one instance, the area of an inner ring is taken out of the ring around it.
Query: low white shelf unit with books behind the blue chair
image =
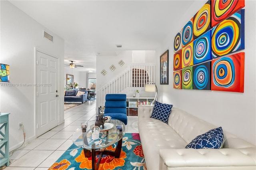
[[[150,105],[154,97],[126,97],[127,116],[138,116],[138,105]]]

